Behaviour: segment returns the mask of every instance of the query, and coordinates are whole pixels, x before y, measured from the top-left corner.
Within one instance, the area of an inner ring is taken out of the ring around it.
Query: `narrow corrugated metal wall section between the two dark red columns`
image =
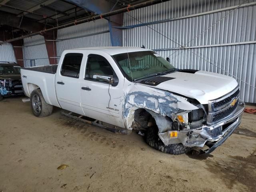
[[[30,67],[31,60],[35,61],[35,66],[50,64],[43,36],[24,38],[23,58],[24,67]]]

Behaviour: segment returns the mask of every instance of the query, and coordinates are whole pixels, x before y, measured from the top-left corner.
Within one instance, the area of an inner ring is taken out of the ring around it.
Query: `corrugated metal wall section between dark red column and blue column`
[[[108,21],[100,19],[58,30],[57,55],[66,49],[111,46]]]

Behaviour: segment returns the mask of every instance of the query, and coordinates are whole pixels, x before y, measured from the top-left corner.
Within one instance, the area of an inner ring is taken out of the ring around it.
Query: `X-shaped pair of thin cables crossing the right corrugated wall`
[[[246,2],[246,1],[248,1],[248,0],[245,0],[244,2]],[[239,8],[242,4],[244,4],[244,2],[242,2],[238,7],[236,7],[236,9]],[[236,10],[236,9],[234,9],[234,10]],[[234,10],[233,10],[233,11],[234,11]],[[233,12],[233,11],[232,11],[232,12]],[[220,20],[224,19],[224,18],[225,18],[226,16],[228,16],[230,13],[231,13],[231,12],[229,12],[227,15],[225,15],[225,16],[224,16],[223,18],[221,18]],[[140,21],[140,20],[138,20],[137,18],[131,16],[129,13],[126,13],[126,14],[127,14],[128,16],[130,16],[131,18],[134,18],[136,21],[140,22],[141,24],[144,24],[142,21]],[[220,20],[219,20],[218,22],[220,22]],[[216,25],[218,22],[214,23],[213,25]],[[212,26],[213,26],[213,25],[212,25]],[[175,42],[174,40],[168,38],[168,37],[165,36],[164,34],[158,32],[157,30],[155,30],[154,28],[152,28],[152,27],[150,27],[150,26],[148,26],[148,25],[145,25],[145,26],[148,27],[148,28],[150,28],[150,29],[152,29],[152,30],[154,30],[154,31],[157,32],[158,34],[164,36],[164,37],[167,38],[168,40],[170,40],[170,41],[172,41],[172,42],[178,44],[179,46],[181,46],[178,50],[180,50],[181,48],[184,48],[184,49],[190,51],[191,53],[195,54],[195,55],[198,56],[199,58],[202,58],[202,59],[205,60],[206,62],[212,64],[213,66],[216,66],[216,67],[219,68],[220,70],[222,70],[222,71],[228,73],[229,75],[231,75],[231,76],[237,78],[237,79],[240,80],[241,82],[244,82],[245,84],[247,84],[247,85],[253,87],[254,89],[256,89],[255,86],[253,86],[253,85],[251,85],[251,84],[249,84],[249,83],[247,83],[247,82],[241,80],[240,78],[234,76],[234,75],[231,74],[230,72],[228,72],[228,71],[226,71],[226,70],[220,68],[219,66],[217,66],[217,65],[214,64],[213,62],[211,62],[211,61],[207,60],[206,58],[204,58],[204,56],[201,56],[200,54],[197,54],[196,52],[193,52],[192,50],[190,50],[190,48],[186,48],[185,46],[182,46],[182,45],[179,44],[178,42]],[[206,32],[207,30],[209,30],[212,26],[210,26],[210,27],[209,27],[208,29],[206,29],[204,32]],[[202,32],[202,33],[204,33],[204,32]],[[201,33],[201,34],[202,34],[202,33]],[[198,36],[200,36],[201,34],[199,34]],[[198,38],[198,36],[196,36],[195,38]],[[194,39],[195,39],[195,38],[194,38]],[[193,40],[194,40],[194,39],[193,39]],[[192,41],[192,40],[191,40],[191,41]],[[190,42],[191,42],[191,41],[190,41]],[[189,43],[189,42],[188,42],[188,43]],[[188,44],[188,43],[187,43],[187,44]],[[186,45],[186,44],[185,44],[185,45]],[[178,50],[177,50],[177,51],[178,51]],[[177,52],[177,51],[176,51],[176,52]],[[171,54],[171,55],[173,55],[173,54]]]

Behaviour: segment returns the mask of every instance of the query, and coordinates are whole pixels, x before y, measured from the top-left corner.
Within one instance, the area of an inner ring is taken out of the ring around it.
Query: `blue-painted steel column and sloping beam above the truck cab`
[[[106,0],[68,0],[77,6],[84,8],[95,14],[104,14],[112,10],[117,10],[119,7],[117,4],[113,4]],[[110,40],[112,46],[122,46],[122,29],[117,27],[122,27],[124,14],[117,14],[106,18],[108,20],[108,26],[110,31]]]

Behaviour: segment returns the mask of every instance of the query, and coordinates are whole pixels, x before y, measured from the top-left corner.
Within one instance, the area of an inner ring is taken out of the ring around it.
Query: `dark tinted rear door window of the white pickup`
[[[66,54],[62,63],[62,68],[61,68],[62,76],[79,78],[82,58],[83,58],[82,53]]]

